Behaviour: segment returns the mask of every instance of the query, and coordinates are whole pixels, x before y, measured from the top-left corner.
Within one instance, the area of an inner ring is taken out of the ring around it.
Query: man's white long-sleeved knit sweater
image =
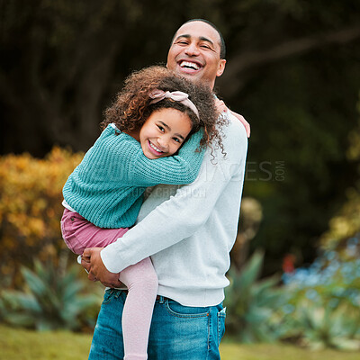
[[[151,257],[159,295],[184,306],[223,301],[247,157],[246,130],[228,116],[229,125],[222,128],[226,157],[214,149],[212,159],[207,149],[192,184],[157,185],[143,203],[137,225],[102,250],[110,272]]]

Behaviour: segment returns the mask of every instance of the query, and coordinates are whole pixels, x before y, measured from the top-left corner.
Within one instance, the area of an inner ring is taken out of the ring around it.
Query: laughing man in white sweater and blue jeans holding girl
[[[220,32],[203,20],[175,33],[167,67],[213,88],[225,69]],[[224,107],[223,103],[220,104]],[[86,249],[89,279],[119,286],[121,270],[151,256],[159,287],[148,340],[148,359],[220,359],[225,330],[222,307],[229,284],[229,251],[238,214],[247,155],[247,122],[230,115],[222,128],[226,157],[206,150],[193,184],[158,185],[143,203],[138,223],[106,248]],[[90,359],[122,359],[121,314],[126,293],[105,293],[94,330]],[[106,357],[107,356],[107,357]]]

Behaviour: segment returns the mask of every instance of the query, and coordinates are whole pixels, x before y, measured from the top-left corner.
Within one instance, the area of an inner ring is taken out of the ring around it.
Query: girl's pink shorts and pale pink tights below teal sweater
[[[61,231],[67,247],[81,255],[86,247],[106,247],[121,238],[128,228],[101,229],[78,213],[65,209]],[[124,360],[147,359],[148,332],[157,297],[157,274],[150,258],[122,270],[119,280],[128,288],[122,313]]]

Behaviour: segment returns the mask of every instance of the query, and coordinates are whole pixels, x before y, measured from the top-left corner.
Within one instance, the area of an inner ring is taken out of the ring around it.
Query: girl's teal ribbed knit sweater
[[[129,227],[138,217],[148,186],[195,180],[204,153],[195,152],[201,138],[202,131],[198,131],[178,155],[151,160],[143,154],[139,141],[110,124],[68,177],[64,199],[100,228]]]

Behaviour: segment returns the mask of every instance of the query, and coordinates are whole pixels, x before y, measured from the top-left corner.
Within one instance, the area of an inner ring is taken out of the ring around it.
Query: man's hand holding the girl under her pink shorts
[[[119,274],[110,273],[103,265],[103,260],[100,257],[101,250],[103,250],[103,247],[89,247],[84,250],[81,257],[81,266],[88,272],[88,279],[100,281],[103,285],[109,287],[123,287],[123,284],[119,281]]]

